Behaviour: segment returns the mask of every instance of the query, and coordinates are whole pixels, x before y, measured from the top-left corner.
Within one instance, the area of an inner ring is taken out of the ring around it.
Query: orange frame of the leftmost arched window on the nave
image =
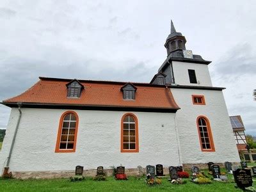
[[[75,130],[75,136],[74,136],[74,146],[73,146],[72,149],[60,149],[60,140],[61,140],[61,131],[62,131],[63,120],[64,120],[64,117],[68,113],[72,113],[73,115],[76,116],[76,130]],[[56,147],[55,147],[55,152],[56,153],[76,152],[76,140],[77,140],[78,124],[79,124],[79,118],[78,118],[78,115],[75,111],[66,111],[65,113],[63,113],[61,115],[60,124],[59,124],[59,128],[58,128],[58,136],[57,136],[57,141],[56,141]]]

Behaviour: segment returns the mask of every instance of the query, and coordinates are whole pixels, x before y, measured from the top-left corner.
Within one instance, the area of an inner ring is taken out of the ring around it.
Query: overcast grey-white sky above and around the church
[[[0,2],[0,100],[38,76],[149,83],[166,59],[172,19],[186,48],[224,86],[229,115],[256,136],[256,1]],[[0,106],[0,128],[10,108]]]

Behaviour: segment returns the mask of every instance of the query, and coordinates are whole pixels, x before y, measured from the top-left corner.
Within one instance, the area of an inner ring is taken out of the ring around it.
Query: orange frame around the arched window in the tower
[[[211,145],[211,148],[209,148],[209,149],[203,148],[203,144],[202,144],[202,140],[201,140],[201,135],[200,135],[199,124],[198,124],[198,120],[200,118],[204,118],[204,120],[206,122],[207,132],[208,132],[209,141],[210,141],[210,145]],[[196,118],[196,125],[197,125],[198,136],[199,136],[199,141],[200,141],[200,147],[201,147],[202,152],[215,152],[214,142],[213,142],[213,138],[212,138],[211,125],[210,125],[210,122],[209,122],[208,118],[206,116],[202,116],[202,115],[198,116]]]

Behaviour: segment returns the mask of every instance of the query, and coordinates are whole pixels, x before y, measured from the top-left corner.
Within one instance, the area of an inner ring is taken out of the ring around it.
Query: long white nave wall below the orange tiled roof
[[[77,165],[84,169],[120,164],[125,168],[147,164],[179,165],[175,113],[131,112],[138,118],[140,151],[121,153],[121,118],[127,112],[73,110],[79,116],[76,152],[56,153],[59,121],[65,111],[22,109],[10,171],[74,170]],[[2,167],[6,163],[18,115],[17,109],[12,109],[0,155]]]

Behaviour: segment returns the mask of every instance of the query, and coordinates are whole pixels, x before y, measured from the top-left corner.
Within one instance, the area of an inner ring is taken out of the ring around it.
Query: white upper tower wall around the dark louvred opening
[[[212,86],[211,77],[207,65],[172,61],[172,66],[176,84],[193,86]],[[195,70],[196,80],[200,83],[190,83],[188,69]]]

